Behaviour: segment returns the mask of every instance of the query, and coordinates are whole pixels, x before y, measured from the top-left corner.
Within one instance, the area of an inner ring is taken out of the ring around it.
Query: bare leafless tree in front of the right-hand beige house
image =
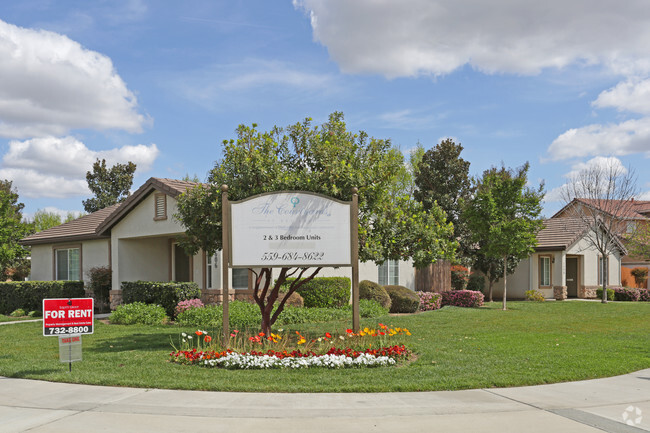
[[[618,235],[625,231],[629,215],[635,213],[636,175],[617,162],[606,160],[581,170],[561,189],[564,216],[578,218],[588,228],[584,239],[601,257],[621,249]],[[637,239],[642,239],[642,234],[639,236]],[[600,260],[603,303],[607,303],[607,264]]]

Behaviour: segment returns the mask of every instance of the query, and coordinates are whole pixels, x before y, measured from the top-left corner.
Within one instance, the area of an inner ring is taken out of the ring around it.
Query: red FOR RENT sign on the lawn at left
[[[43,299],[43,335],[93,333],[93,298]]]

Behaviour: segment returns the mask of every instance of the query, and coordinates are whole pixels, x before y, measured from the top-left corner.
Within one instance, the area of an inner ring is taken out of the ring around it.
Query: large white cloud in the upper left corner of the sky
[[[0,20],[0,136],[140,132],[148,121],[111,60],[68,37]]]

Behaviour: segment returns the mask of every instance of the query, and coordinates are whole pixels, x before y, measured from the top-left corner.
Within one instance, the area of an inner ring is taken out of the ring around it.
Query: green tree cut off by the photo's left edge
[[[23,203],[12,189],[10,180],[0,181],[0,272],[4,281],[15,269],[25,267],[29,251],[18,241],[33,231],[29,223],[22,221]]]

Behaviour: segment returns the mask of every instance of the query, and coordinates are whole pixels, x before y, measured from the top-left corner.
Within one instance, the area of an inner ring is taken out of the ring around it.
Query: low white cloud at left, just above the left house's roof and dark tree
[[[85,175],[96,159],[106,165],[134,162],[147,171],[159,154],[155,144],[94,151],[73,137],[13,140],[2,158],[0,179],[11,179],[21,196],[64,198],[88,195]]]

